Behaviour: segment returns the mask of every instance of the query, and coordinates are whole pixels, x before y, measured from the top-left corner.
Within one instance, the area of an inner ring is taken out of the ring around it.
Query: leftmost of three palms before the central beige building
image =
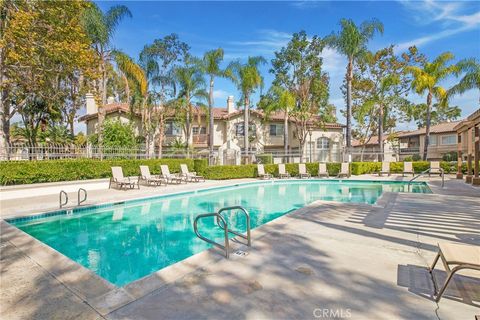
[[[205,79],[203,78],[203,74],[190,62],[187,62],[185,66],[175,68],[174,71],[175,80],[179,88],[177,106],[179,106],[182,114],[185,116],[183,120],[187,152],[190,147],[190,137],[192,134],[191,122],[193,108],[195,107],[194,100],[201,102],[208,98],[208,93],[205,91]]]

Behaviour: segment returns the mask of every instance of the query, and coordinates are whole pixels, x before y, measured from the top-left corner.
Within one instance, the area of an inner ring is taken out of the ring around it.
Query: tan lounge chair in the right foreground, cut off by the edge
[[[433,275],[433,270],[438,262],[438,259],[442,259],[443,266],[447,272],[447,279],[437,293],[437,284]],[[450,269],[451,266],[454,266]],[[480,271],[480,247],[475,245],[457,244],[457,243],[439,243],[438,253],[433,260],[432,266],[429,268],[430,275],[432,276],[433,287],[435,290],[435,301],[438,302],[442,298],[445,289],[448,286],[453,275],[460,270],[471,269]]]

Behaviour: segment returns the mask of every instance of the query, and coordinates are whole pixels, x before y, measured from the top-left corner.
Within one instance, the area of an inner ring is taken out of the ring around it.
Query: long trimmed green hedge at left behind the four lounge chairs
[[[125,176],[137,176],[140,165],[148,165],[152,174],[160,173],[161,164],[168,165],[171,172],[179,172],[181,163],[194,170],[192,159],[1,161],[0,183],[13,185],[108,178],[113,166],[122,167]],[[197,166],[201,168],[202,164],[198,162]]]

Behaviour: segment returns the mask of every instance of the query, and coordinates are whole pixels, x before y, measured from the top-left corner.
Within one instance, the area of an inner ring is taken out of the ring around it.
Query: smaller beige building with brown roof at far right
[[[457,151],[457,131],[455,126],[460,121],[443,122],[430,127],[430,143],[427,159],[441,160],[443,155]],[[412,154],[423,154],[425,145],[425,128],[403,131],[397,134],[400,158]],[[400,159],[402,160],[402,159]]]

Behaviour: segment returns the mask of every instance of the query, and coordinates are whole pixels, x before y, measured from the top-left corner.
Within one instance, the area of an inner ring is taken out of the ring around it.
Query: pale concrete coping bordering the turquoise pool
[[[290,179],[289,181],[301,181],[302,179]],[[313,179],[310,179],[312,181]],[[321,180],[321,179],[318,179]],[[268,181],[268,180],[267,180]],[[278,181],[278,180],[277,180]],[[305,180],[304,180],[305,181]],[[334,180],[330,180],[334,181]],[[363,180],[344,180],[344,181],[355,181],[362,182]],[[374,180],[366,180],[374,181]],[[260,181],[249,181],[245,183],[235,182],[231,185],[222,186],[222,187],[212,187],[205,188],[202,190],[212,190],[219,188],[228,188],[235,185],[249,185],[265,182],[264,180]],[[272,180],[272,183],[274,180]],[[381,181],[383,182],[383,181]],[[143,197],[136,198],[130,201],[144,200],[148,198],[161,198],[165,196],[172,195],[181,195],[189,192],[177,192],[172,194],[165,194],[162,196],[155,197]],[[386,207],[391,200],[394,199],[397,192],[382,192],[381,196],[377,199],[375,204],[366,204],[366,203],[355,203],[356,205],[364,205],[369,207]],[[330,202],[326,200],[321,200],[322,202]],[[127,202],[127,201],[124,201]],[[255,239],[260,239],[261,237],[269,234],[266,230],[266,227],[271,225],[271,223],[278,221],[282,217],[287,217],[292,214],[299,214],[303,210],[308,210],[310,206],[315,205],[319,200],[314,201],[302,208],[290,211],[282,216],[279,216],[268,223],[265,223],[261,226],[252,230],[252,241]],[[337,202],[337,201],[333,201]],[[87,208],[87,207],[84,207]],[[82,208],[83,209],[83,208]],[[102,316],[105,316],[114,310],[117,310],[129,303],[132,303],[156,290],[160,290],[163,287],[174,283],[175,281],[192,274],[203,266],[216,263],[224,259],[223,255],[215,247],[199,252],[193,256],[190,256],[186,259],[178,261],[172,265],[169,265],[165,268],[162,268],[158,271],[155,271],[149,275],[146,275],[140,279],[132,281],[124,286],[116,286],[110,283],[108,280],[97,275],[92,270],[82,266],[81,264],[75,262],[59,251],[53,249],[47,244],[41,242],[40,240],[30,236],[26,232],[20,230],[14,225],[11,225],[4,219],[0,221],[1,236],[5,240],[12,243],[17,247],[21,252],[27,255],[30,259],[35,261],[40,267],[42,267],[48,274],[61,282],[66,288],[68,288],[72,293],[77,295],[83,302],[87,305],[94,308]],[[25,246],[27,248],[25,248]],[[231,241],[231,249],[235,250],[254,250],[248,248],[242,243],[237,243]],[[235,255],[231,255],[231,260],[235,260]]]

